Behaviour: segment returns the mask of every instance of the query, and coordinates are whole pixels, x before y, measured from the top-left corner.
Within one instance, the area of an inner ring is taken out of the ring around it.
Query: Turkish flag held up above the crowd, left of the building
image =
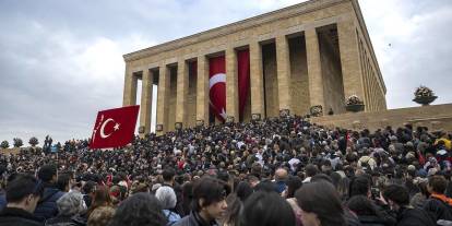
[[[97,114],[90,148],[121,147],[133,139],[140,106],[103,110]]]

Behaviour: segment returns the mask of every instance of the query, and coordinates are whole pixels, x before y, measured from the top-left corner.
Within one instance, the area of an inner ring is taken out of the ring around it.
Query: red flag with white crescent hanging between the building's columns
[[[226,120],[225,56],[209,59],[209,96],[211,110],[224,122]]]

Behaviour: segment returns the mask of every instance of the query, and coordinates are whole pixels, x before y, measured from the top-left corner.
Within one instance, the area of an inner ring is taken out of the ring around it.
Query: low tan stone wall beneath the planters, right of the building
[[[452,104],[431,105],[411,108],[399,108],[373,112],[347,112],[334,116],[311,118],[311,122],[328,128],[377,129],[392,126],[393,128],[411,123],[413,127],[428,127],[430,131],[452,131]]]

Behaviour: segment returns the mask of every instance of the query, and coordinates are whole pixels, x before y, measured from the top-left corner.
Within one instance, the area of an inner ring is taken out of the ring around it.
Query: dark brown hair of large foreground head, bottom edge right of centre
[[[332,183],[306,183],[298,189],[295,198],[302,211],[317,214],[322,226],[345,225],[344,209]]]

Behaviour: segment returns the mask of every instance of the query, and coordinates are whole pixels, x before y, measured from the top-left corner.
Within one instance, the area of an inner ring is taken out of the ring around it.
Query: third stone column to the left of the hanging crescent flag
[[[169,105],[169,79],[170,72],[166,64],[160,64],[158,72],[158,90],[157,90],[157,135],[168,131],[168,105]],[[160,131],[157,131],[162,127]]]

